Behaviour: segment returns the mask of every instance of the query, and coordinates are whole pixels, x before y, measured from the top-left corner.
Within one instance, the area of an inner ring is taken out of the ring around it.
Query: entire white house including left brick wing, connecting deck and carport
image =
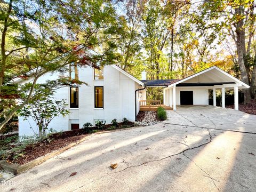
[[[140,81],[116,65],[105,66],[102,70],[74,66],[70,77],[78,78],[88,85],[57,90],[54,97],[56,100],[66,100],[70,114],[66,117],[55,117],[49,128],[68,131],[81,129],[85,123],[94,125],[97,120],[105,120],[109,124],[116,118],[121,122],[124,117],[135,121],[140,109],[148,109],[147,103],[156,103],[147,101],[147,87],[163,88],[163,103],[159,101],[157,105],[153,104],[153,107],[150,104],[149,110],[157,109],[158,106],[179,110],[181,105],[209,105],[209,90],[213,90],[213,106],[216,106],[217,89],[222,93],[222,108],[225,108],[225,90],[234,90],[235,110],[238,110],[238,89],[250,87],[215,66],[184,79],[147,80],[146,76],[143,71]],[[47,73],[38,79],[38,83],[58,77],[59,74]],[[16,83],[24,83],[24,80]],[[146,103],[146,106],[141,103]],[[19,135],[33,135],[30,127],[36,130],[33,119],[23,121],[23,118],[19,117]]]

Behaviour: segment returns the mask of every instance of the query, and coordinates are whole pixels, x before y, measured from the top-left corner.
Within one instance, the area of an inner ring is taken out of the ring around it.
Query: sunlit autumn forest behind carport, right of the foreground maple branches
[[[217,66],[251,86],[245,102],[254,98],[254,1],[127,0],[119,5],[123,69],[138,78],[146,70],[148,79],[181,79]]]

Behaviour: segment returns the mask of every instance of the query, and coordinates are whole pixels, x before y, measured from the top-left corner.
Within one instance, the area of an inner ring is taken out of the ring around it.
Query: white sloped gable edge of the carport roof
[[[188,81],[188,80],[191,79],[191,78],[194,78],[194,77],[196,77],[196,76],[202,75],[202,74],[206,73],[207,71],[211,71],[211,70],[213,70],[213,69],[216,69],[216,70],[218,70],[221,74],[226,75],[227,77],[229,77],[230,79],[232,79],[235,83],[241,84],[241,85],[242,85],[242,88],[250,88],[249,85],[245,84],[244,82],[240,81],[240,80],[237,79],[236,77],[233,77],[232,75],[228,74],[227,72],[223,71],[222,69],[220,69],[219,67],[216,67],[216,66],[207,68],[207,69],[205,69],[205,70],[200,71],[199,73],[196,73],[196,74],[194,74],[194,75],[191,75],[191,76],[188,76],[188,77],[186,77],[186,78],[183,78],[183,79],[181,79],[181,80],[179,80],[179,81],[177,81],[177,82],[175,82],[175,83],[169,85],[168,87],[173,87],[173,86],[175,86],[175,85],[177,85],[177,84],[180,84],[180,83],[182,83],[182,82]]]

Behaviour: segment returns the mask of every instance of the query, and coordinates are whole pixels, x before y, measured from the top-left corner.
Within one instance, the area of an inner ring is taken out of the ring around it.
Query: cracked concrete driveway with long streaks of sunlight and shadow
[[[214,109],[167,113],[157,125],[93,134],[0,190],[256,191],[256,116]]]

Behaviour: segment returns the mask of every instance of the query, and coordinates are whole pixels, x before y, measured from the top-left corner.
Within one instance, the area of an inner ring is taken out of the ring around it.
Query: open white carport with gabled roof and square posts
[[[238,110],[238,89],[250,86],[218,67],[210,67],[164,88],[164,105],[173,110],[177,105],[209,105],[209,90],[213,90],[213,106],[216,106],[216,90],[221,90],[222,108],[225,108],[225,91],[234,89],[235,110]]]

